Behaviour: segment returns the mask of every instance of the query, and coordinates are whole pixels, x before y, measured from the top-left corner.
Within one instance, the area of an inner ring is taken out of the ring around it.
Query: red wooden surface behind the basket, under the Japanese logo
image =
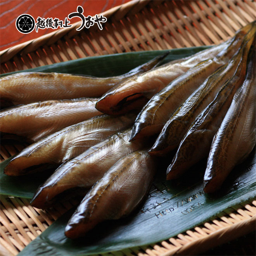
[[[68,14],[76,12],[78,5],[83,7],[84,16],[93,16],[125,2],[129,0],[0,0],[0,50],[54,31],[49,28],[39,29],[38,33],[35,29],[29,34],[20,33],[15,23],[21,14],[29,14],[35,21],[38,16],[64,20]],[[70,21],[72,24],[80,20],[74,17]]]

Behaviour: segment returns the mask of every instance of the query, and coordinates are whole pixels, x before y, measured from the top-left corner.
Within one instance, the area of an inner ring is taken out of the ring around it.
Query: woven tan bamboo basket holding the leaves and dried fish
[[[24,70],[87,56],[162,50],[223,42],[256,18],[255,0],[133,0],[104,13],[107,22],[76,31],[59,29],[0,52],[1,73]],[[0,160],[25,144],[1,144]],[[27,199],[1,197],[0,254],[16,255],[77,202],[42,211]],[[255,229],[256,201],[230,208],[213,220],[169,240],[124,250],[115,255],[195,255]],[[107,253],[106,255],[114,255]]]

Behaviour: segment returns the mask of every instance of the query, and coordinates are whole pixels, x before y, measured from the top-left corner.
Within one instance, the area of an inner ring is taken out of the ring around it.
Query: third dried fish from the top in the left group
[[[14,157],[4,169],[11,176],[28,173],[26,168],[39,164],[61,164],[79,156],[117,131],[131,126],[137,113],[125,116],[96,116],[42,138]]]

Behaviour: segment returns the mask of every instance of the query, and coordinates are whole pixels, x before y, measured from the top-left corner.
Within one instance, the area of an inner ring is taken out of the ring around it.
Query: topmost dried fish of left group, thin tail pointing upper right
[[[43,100],[100,97],[121,81],[156,67],[165,56],[166,54],[157,56],[124,75],[107,78],[42,72],[4,76],[0,78],[1,107]]]

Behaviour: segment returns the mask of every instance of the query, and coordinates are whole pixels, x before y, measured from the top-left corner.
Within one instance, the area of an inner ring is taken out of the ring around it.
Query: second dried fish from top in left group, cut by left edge
[[[0,131],[35,142],[50,133],[102,114],[95,109],[97,99],[47,100],[10,107],[0,111]]]

